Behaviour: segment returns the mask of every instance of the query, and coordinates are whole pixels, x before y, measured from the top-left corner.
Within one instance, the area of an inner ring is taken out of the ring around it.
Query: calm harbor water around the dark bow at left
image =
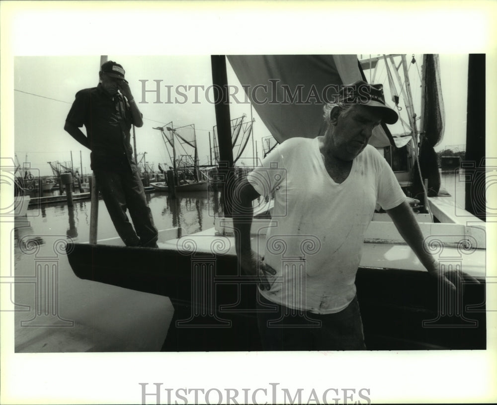
[[[222,212],[219,193],[146,196],[159,230],[181,226],[199,232]],[[10,290],[15,352],[161,349],[173,314],[167,297],[81,280],[69,265],[60,241],[88,241],[89,199],[74,201],[72,208],[66,202],[30,207],[26,220],[15,224],[12,277],[5,281],[15,284],[15,293]],[[116,236],[100,200],[98,239]]]

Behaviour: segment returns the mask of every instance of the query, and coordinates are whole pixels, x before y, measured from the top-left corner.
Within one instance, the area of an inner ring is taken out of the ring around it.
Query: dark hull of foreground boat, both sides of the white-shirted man
[[[256,283],[238,274],[234,254],[82,243],[69,243],[67,252],[82,279],[170,298],[175,312],[163,350],[261,350]],[[480,281],[466,286],[460,313],[446,316],[426,272],[359,268],[368,349],[485,349],[485,280]]]

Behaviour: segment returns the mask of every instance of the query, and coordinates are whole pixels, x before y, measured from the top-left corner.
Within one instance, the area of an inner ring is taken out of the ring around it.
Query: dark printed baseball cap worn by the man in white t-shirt
[[[358,80],[340,88],[339,100],[345,104],[361,104],[382,110],[383,122],[395,124],[399,119],[397,111],[385,104],[383,84],[369,84]]]

